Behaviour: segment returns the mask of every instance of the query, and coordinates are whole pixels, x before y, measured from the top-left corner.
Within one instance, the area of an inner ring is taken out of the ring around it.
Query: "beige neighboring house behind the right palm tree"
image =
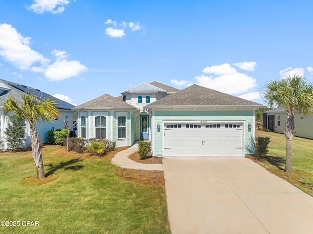
[[[284,133],[286,110],[274,108],[263,113],[263,128]],[[313,139],[313,115],[294,113],[294,135]]]

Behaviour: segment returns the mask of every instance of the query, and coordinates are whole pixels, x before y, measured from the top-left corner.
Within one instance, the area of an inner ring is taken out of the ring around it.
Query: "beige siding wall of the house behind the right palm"
[[[278,117],[280,116],[280,117]],[[301,119],[302,117],[302,119]],[[278,126],[278,118],[280,118],[280,126]],[[275,132],[284,133],[286,113],[275,113]],[[302,114],[294,114],[294,135],[304,138],[313,139],[313,115],[304,116]]]

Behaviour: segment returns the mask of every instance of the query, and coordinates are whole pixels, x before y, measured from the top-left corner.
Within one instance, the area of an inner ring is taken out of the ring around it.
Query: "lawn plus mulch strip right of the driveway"
[[[286,173],[286,138],[284,134],[256,130],[256,137],[266,136],[270,138],[268,155],[264,159],[249,157],[268,171],[287,180],[297,188],[313,196],[311,184],[305,181],[313,181],[313,140],[300,137],[292,138],[292,174]]]

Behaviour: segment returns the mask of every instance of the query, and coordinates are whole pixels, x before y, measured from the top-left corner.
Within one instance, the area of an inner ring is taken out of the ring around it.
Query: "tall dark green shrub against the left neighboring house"
[[[4,134],[8,148],[14,151],[20,148],[25,137],[25,121],[17,114],[10,116],[9,119],[10,123],[5,128]]]

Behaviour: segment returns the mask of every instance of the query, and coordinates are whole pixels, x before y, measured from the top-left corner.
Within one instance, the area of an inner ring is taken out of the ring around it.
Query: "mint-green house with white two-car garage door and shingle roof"
[[[199,85],[183,90],[141,83],[76,106],[78,137],[105,137],[117,147],[150,140],[155,156],[254,154],[255,110],[265,107]]]

